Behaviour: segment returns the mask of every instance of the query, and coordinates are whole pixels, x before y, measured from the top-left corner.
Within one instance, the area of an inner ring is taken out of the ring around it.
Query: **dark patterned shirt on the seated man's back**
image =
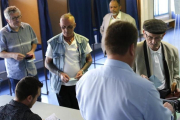
[[[9,104],[0,107],[0,120],[42,120],[26,105],[11,100]]]

